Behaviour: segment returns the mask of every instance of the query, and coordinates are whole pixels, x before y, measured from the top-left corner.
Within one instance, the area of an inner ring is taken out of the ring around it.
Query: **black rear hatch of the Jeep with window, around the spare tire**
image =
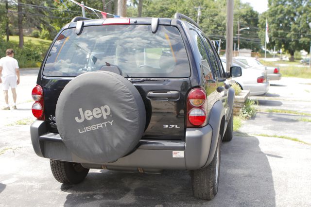
[[[96,70],[119,73],[136,86],[147,112],[144,138],[184,139],[190,65],[176,27],[159,25],[155,34],[151,25],[131,24],[87,26],[81,35],[75,28],[64,30],[41,80],[51,132],[57,132],[55,106],[62,89],[79,74]]]

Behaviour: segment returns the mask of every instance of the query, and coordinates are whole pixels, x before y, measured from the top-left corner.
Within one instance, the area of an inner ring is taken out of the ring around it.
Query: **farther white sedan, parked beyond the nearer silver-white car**
[[[279,68],[264,66],[258,60],[256,60],[256,58],[254,58],[254,57],[238,56],[238,57],[234,57],[234,59],[238,60],[238,61],[240,61],[246,65],[252,66],[252,67],[256,67],[256,68],[260,68],[260,69],[267,69],[267,71],[268,71],[267,77],[269,78],[270,81],[281,80],[282,75],[280,73]]]

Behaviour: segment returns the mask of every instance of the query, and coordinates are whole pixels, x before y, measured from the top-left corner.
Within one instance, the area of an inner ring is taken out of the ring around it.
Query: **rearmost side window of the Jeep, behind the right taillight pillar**
[[[216,76],[213,75],[213,70],[210,67],[209,59],[204,47],[204,43],[202,42],[202,39],[200,38],[199,34],[196,31],[190,30],[190,33],[191,38],[196,43],[194,44],[194,46],[196,46],[196,51],[198,51],[198,53],[201,56],[200,68],[202,72],[202,78],[204,78],[205,81],[215,79]]]

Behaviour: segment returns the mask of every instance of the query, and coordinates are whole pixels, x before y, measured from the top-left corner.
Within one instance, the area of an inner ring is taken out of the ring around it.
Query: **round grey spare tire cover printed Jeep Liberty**
[[[142,137],[145,106],[121,75],[87,72],[70,81],[56,104],[56,124],[66,147],[88,162],[113,162]]]

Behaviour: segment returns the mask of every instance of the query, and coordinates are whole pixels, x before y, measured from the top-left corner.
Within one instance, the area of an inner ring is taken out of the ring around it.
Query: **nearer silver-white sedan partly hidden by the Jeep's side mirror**
[[[226,67],[225,58],[221,58],[224,68]],[[267,80],[267,70],[257,69],[243,64],[240,61],[232,60],[231,66],[242,68],[242,76],[232,78],[243,90],[249,90],[249,95],[257,96],[269,91],[270,83]]]

